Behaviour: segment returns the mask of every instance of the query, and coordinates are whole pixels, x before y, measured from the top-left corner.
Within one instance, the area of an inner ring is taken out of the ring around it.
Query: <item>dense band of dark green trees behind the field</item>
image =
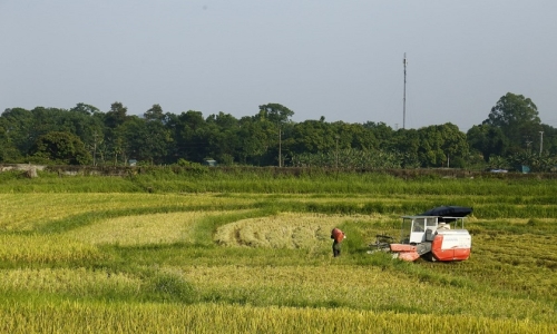
[[[548,171],[557,165],[557,130],[540,121],[536,105],[507,94],[486,120],[462,132],[456,125],[392,129],[384,122],[295,122],[280,104],[258,106],[240,119],[218,112],[141,116],[77,104],[71,109],[8,108],[0,116],[0,163],[125,166],[219,165],[339,168],[510,168]]]

